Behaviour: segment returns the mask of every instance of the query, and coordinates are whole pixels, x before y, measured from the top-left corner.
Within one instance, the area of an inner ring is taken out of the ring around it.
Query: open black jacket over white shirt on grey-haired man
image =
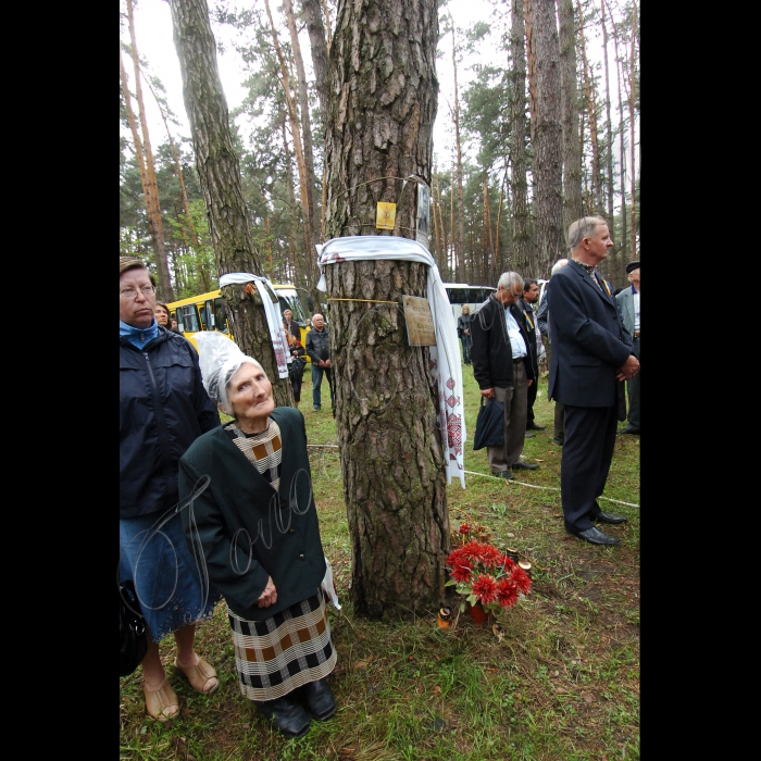
[[[531,359],[531,345],[523,320],[523,314],[515,304],[511,304],[513,317],[526,342],[528,354],[524,359],[526,377],[535,379],[534,366]],[[497,301],[494,295],[489,296],[484,305],[476,312],[471,321],[471,337],[473,347],[473,375],[478,387],[484,388],[511,388],[513,387],[513,355],[508,337],[508,326],[504,323],[504,307]]]

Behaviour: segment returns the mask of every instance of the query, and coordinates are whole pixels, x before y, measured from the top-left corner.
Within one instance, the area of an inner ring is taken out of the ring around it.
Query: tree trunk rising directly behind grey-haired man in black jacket
[[[525,272],[531,258],[531,219],[528,215],[528,179],[526,174],[526,41],[523,0],[512,2],[510,27],[510,164],[512,196],[512,261],[511,269]],[[500,267],[508,266],[502,263]],[[496,283],[494,284],[496,285]]]

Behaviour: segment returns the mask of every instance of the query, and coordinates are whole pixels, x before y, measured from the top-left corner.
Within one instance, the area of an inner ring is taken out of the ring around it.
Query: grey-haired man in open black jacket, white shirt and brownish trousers
[[[497,290],[471,322],[473,375],[481,396],[504,406],[503,446],[487,447],[495,475],[515,481],[509,469],[535,471],[538,465],[521,460],[526,437],[526,394],[536,383],[528,351],[528,336],[516,301],[523,296],[523,278],[503,272]]]

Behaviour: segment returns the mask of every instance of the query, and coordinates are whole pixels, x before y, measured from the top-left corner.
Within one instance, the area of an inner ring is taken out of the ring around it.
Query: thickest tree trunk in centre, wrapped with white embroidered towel
[[[378,234],[378,201],[397,204],[394,235],[415,237],[417,183],[402,180],[415,176],[431,186],[437,37],[435,0],[339,4],[330,49],[328,237]],[[325,270],[351,598],[370,617],[422,614],[437,608],[445,590],[445,462],[429,353],[409,346],[397,304],[402,295],[426,295],[426,267],[347,261]]]

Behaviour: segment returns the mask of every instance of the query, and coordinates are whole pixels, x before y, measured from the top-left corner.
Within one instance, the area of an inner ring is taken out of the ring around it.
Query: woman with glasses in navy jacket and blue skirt
[[[196,351],[158,324],[155,305],[155,282],[146,265],[120,258],[118,575],[135,583],[148,624],[146,709],[166,721],[179,712],[159,658],[167,634],[177,644],[175,669],[195,689],[210,695],[220,684],[194,649],[196,621],[213,613],[220,596],[201,584],[175,511],[179,457],[202,433],[220,427],[220,414],[201,383]]]

